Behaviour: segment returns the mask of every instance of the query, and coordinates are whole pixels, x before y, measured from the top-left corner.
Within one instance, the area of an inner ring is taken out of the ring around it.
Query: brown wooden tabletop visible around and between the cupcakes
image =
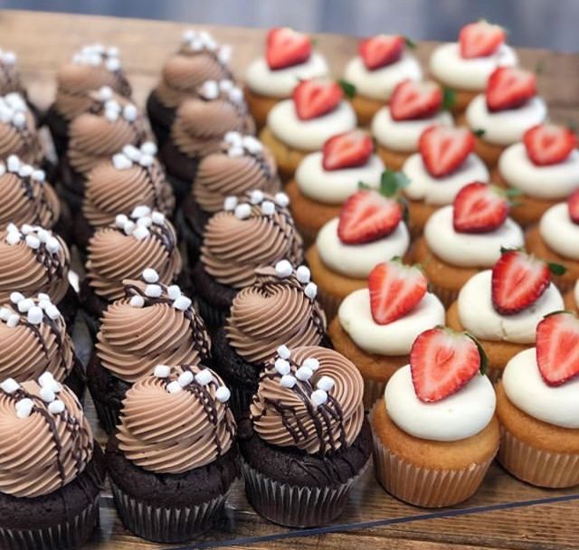
[[[385,16],[385,15],[384,15]],[[185,25],[68,14],[5,11],[0,13],[0,46],[18,53],[32,99],[48,105],[54,73],[84,43],[118,45],[123,65],[143,104],[161,64],[175,50]],[[232,43],[233,69],[242,69],[261,50],[264,32],[233,27],[208,27],[221,42]],[[351,37],[323,34],[318,47],[336,74],[356,51]],[[424,62],[432,43],[421,43]],[[539,88],[551,117],[579,126],[579,55],[521,50],[528,68],[539,71]],[[90,404],[89,404],[90,407]],[[94,418],[93,412],[90,415]],[[94,423],[96,427],[96,422]],[[99,434],[103,441],[102,433]],[[579,547],[579,489],[544,490],[518,482],[493,466],[479,493],[459,507],[438,511],[405,505],[387,495],[368,469],[339,523],[321,529],[291,531],[261,520],[252,511],[238,483],[232,491],[223,524],[196,545],[180,548],[396,548],[397,550],[526,550]],[[90,545],[102,548],[160,548],[130,536],[115,516],[110,493],[102,499],[101,526]],[[170,546],[165,546],[170,547]]]

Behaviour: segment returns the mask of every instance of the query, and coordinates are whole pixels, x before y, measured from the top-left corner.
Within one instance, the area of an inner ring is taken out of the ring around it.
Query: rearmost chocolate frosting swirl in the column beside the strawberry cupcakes
[[[183,41],[165,62],[161,78],[155,89],[158,100],[170,109],[183,100],[195,97],[204,81],[232,79],[228,67],[232,48],[216,43],[206,31],[187,30]]]

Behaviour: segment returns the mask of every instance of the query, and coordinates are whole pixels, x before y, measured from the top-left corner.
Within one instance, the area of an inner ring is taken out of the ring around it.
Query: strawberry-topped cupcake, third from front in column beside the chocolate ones
[[[350,196],[339,218],[320,229],[306,252],[328,321],[348,294],[366,288],[377,263],[403,257],[409,247],[403,206],[393,196],[369,189]]]

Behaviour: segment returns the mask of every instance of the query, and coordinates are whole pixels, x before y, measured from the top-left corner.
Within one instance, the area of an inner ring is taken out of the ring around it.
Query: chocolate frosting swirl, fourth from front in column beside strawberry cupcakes
[[[275,194],[280,178],[270,149],[257,138],[227,132],[219,150],[199,161],[192,186],[195,202],[206,213],[219,212],[228,196],[257,189]]]

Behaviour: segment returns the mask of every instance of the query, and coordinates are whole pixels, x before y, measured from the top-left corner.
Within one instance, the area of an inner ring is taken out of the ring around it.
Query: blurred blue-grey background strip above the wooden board
[[[0,7],[450,41],[486,18],[517,46],[579,50],[579,0],[0,0]]]

